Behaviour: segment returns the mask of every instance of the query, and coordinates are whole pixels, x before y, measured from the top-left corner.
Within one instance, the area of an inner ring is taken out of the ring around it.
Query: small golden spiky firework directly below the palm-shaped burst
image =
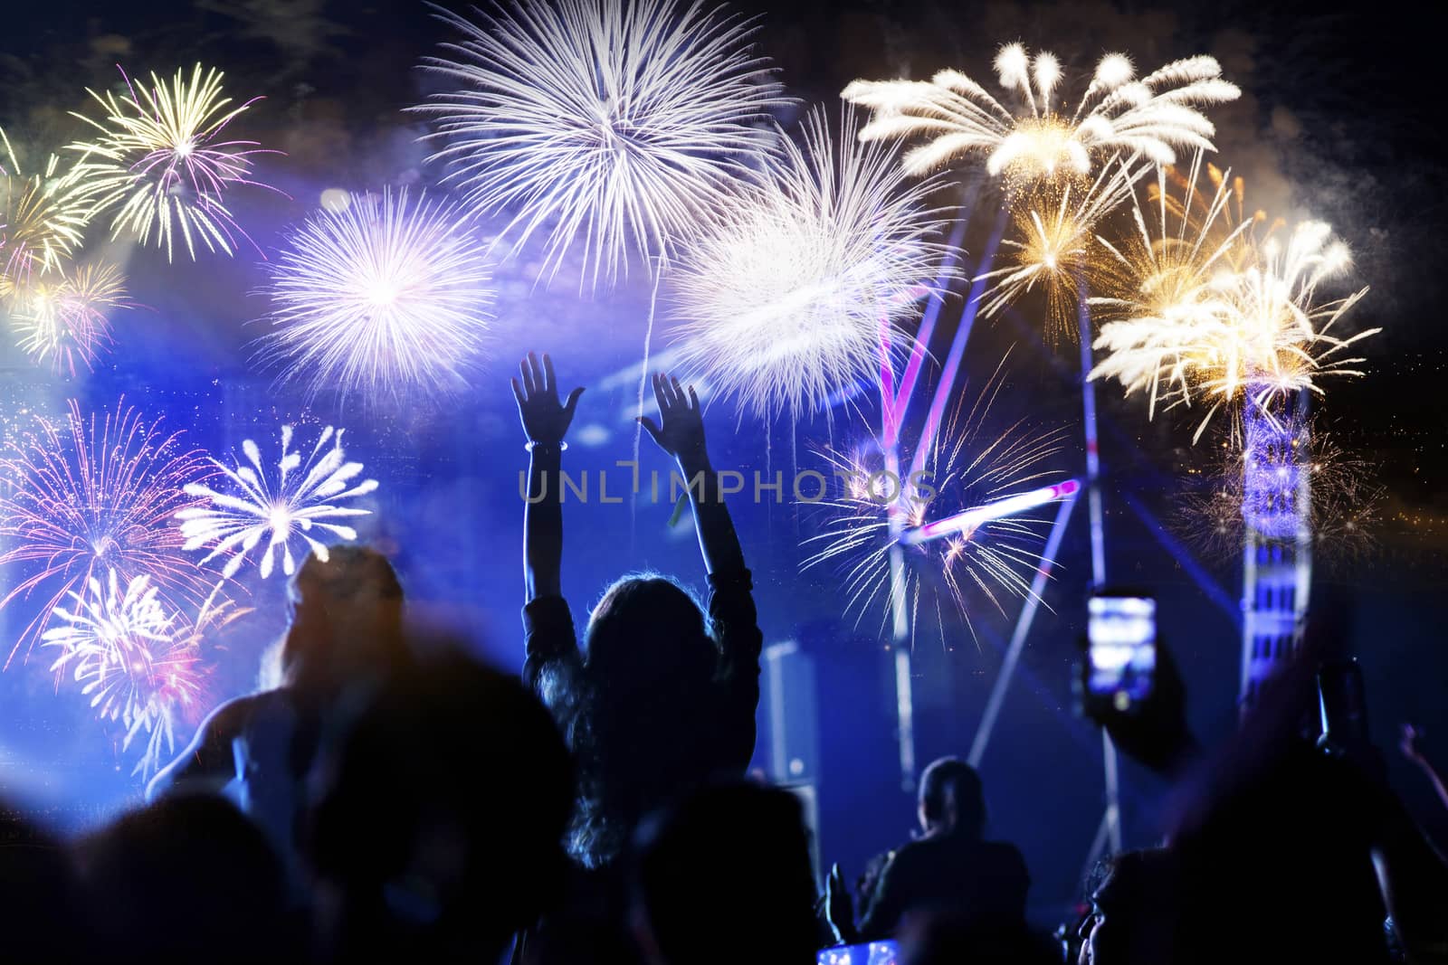
[[[1082,285],[1090,286],[1103,263],[1096,226],[1127,201],[1145,171],[1116,158],[1089,184],[1043,182],[1015,197],[1011,218],[1016,237],[1001,243],[1005,266],[979,276],[990,284],[980,314],[990,318],[1040,289],[1051,333],[1074,337]]]

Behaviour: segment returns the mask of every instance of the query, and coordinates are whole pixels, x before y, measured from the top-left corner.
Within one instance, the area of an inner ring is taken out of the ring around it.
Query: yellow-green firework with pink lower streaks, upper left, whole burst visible
[[[226,194],[240,184],[269,187],[252,179],[252,155],[274,152],[252,140],[220,139],[230,122],[261,100],[230,107],[232,98],[222,95],[223,77],[214,68],[203,74],[197,64],[190,80],[181,69],[169,81],[152,74],[149,85],[126,77],[125,97],[87,88],[103,120],[72,111],[97,136],[68,149],[80,152],[77,171],[91,197],[91,217],[119,205],[111,237],[133,231],[145,245],[155,233],[168,260],[177,230],[193,260],[197,240],[210,252],[232,255],[236,236],[246,237],[226,207]]]

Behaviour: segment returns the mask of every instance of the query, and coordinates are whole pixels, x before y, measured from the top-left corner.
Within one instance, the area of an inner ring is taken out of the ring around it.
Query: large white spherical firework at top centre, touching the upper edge
[[[582,240],[582,278],[615,281],[668,256],[770,146],[788,104],[750,52],[752,20],[675,0],[520,0],[427,69],[458,82],[416,110],[437,119],[433,159],[479,213],[515,208],[514,250],[546,231],[553,276]],[[582,284],[581,278],[581,284]]]

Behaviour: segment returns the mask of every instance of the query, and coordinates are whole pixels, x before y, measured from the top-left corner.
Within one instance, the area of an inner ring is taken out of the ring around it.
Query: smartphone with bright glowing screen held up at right
[[[1086,611],[1086,696],[1129,710],[1151,696],[1157,670],[1157,602],[1099,593]]]

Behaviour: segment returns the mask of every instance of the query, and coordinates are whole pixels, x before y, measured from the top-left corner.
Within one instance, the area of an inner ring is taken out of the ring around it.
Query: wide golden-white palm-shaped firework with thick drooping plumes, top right
[[[1215,127],[1200,107],[1241,95],[1211,56],[1173,61],[1137,80],[1129,58],[1108,54],[1070,113],[1058,93],[1066,69],[1054,54],[1032,58],[1022,45],[1006,43],[995,69],[1018,98],[1015,110],[960,71],[940,71],[928,82],[854,81],[841,95],[875,111],[860,137],[930,137],[905,153],[909,172],[985,153],[992,177],[1015,182],[1087,177],[1095,162],[1115,153],[1174,163],[1180,148],[1212,150]]]

